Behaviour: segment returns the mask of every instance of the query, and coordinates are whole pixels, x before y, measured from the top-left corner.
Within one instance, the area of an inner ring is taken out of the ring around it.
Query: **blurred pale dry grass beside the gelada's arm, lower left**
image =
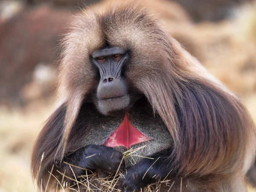
[[[32,191],[30,153],[50,109],[50,105],[0,109],[0,192]]]

